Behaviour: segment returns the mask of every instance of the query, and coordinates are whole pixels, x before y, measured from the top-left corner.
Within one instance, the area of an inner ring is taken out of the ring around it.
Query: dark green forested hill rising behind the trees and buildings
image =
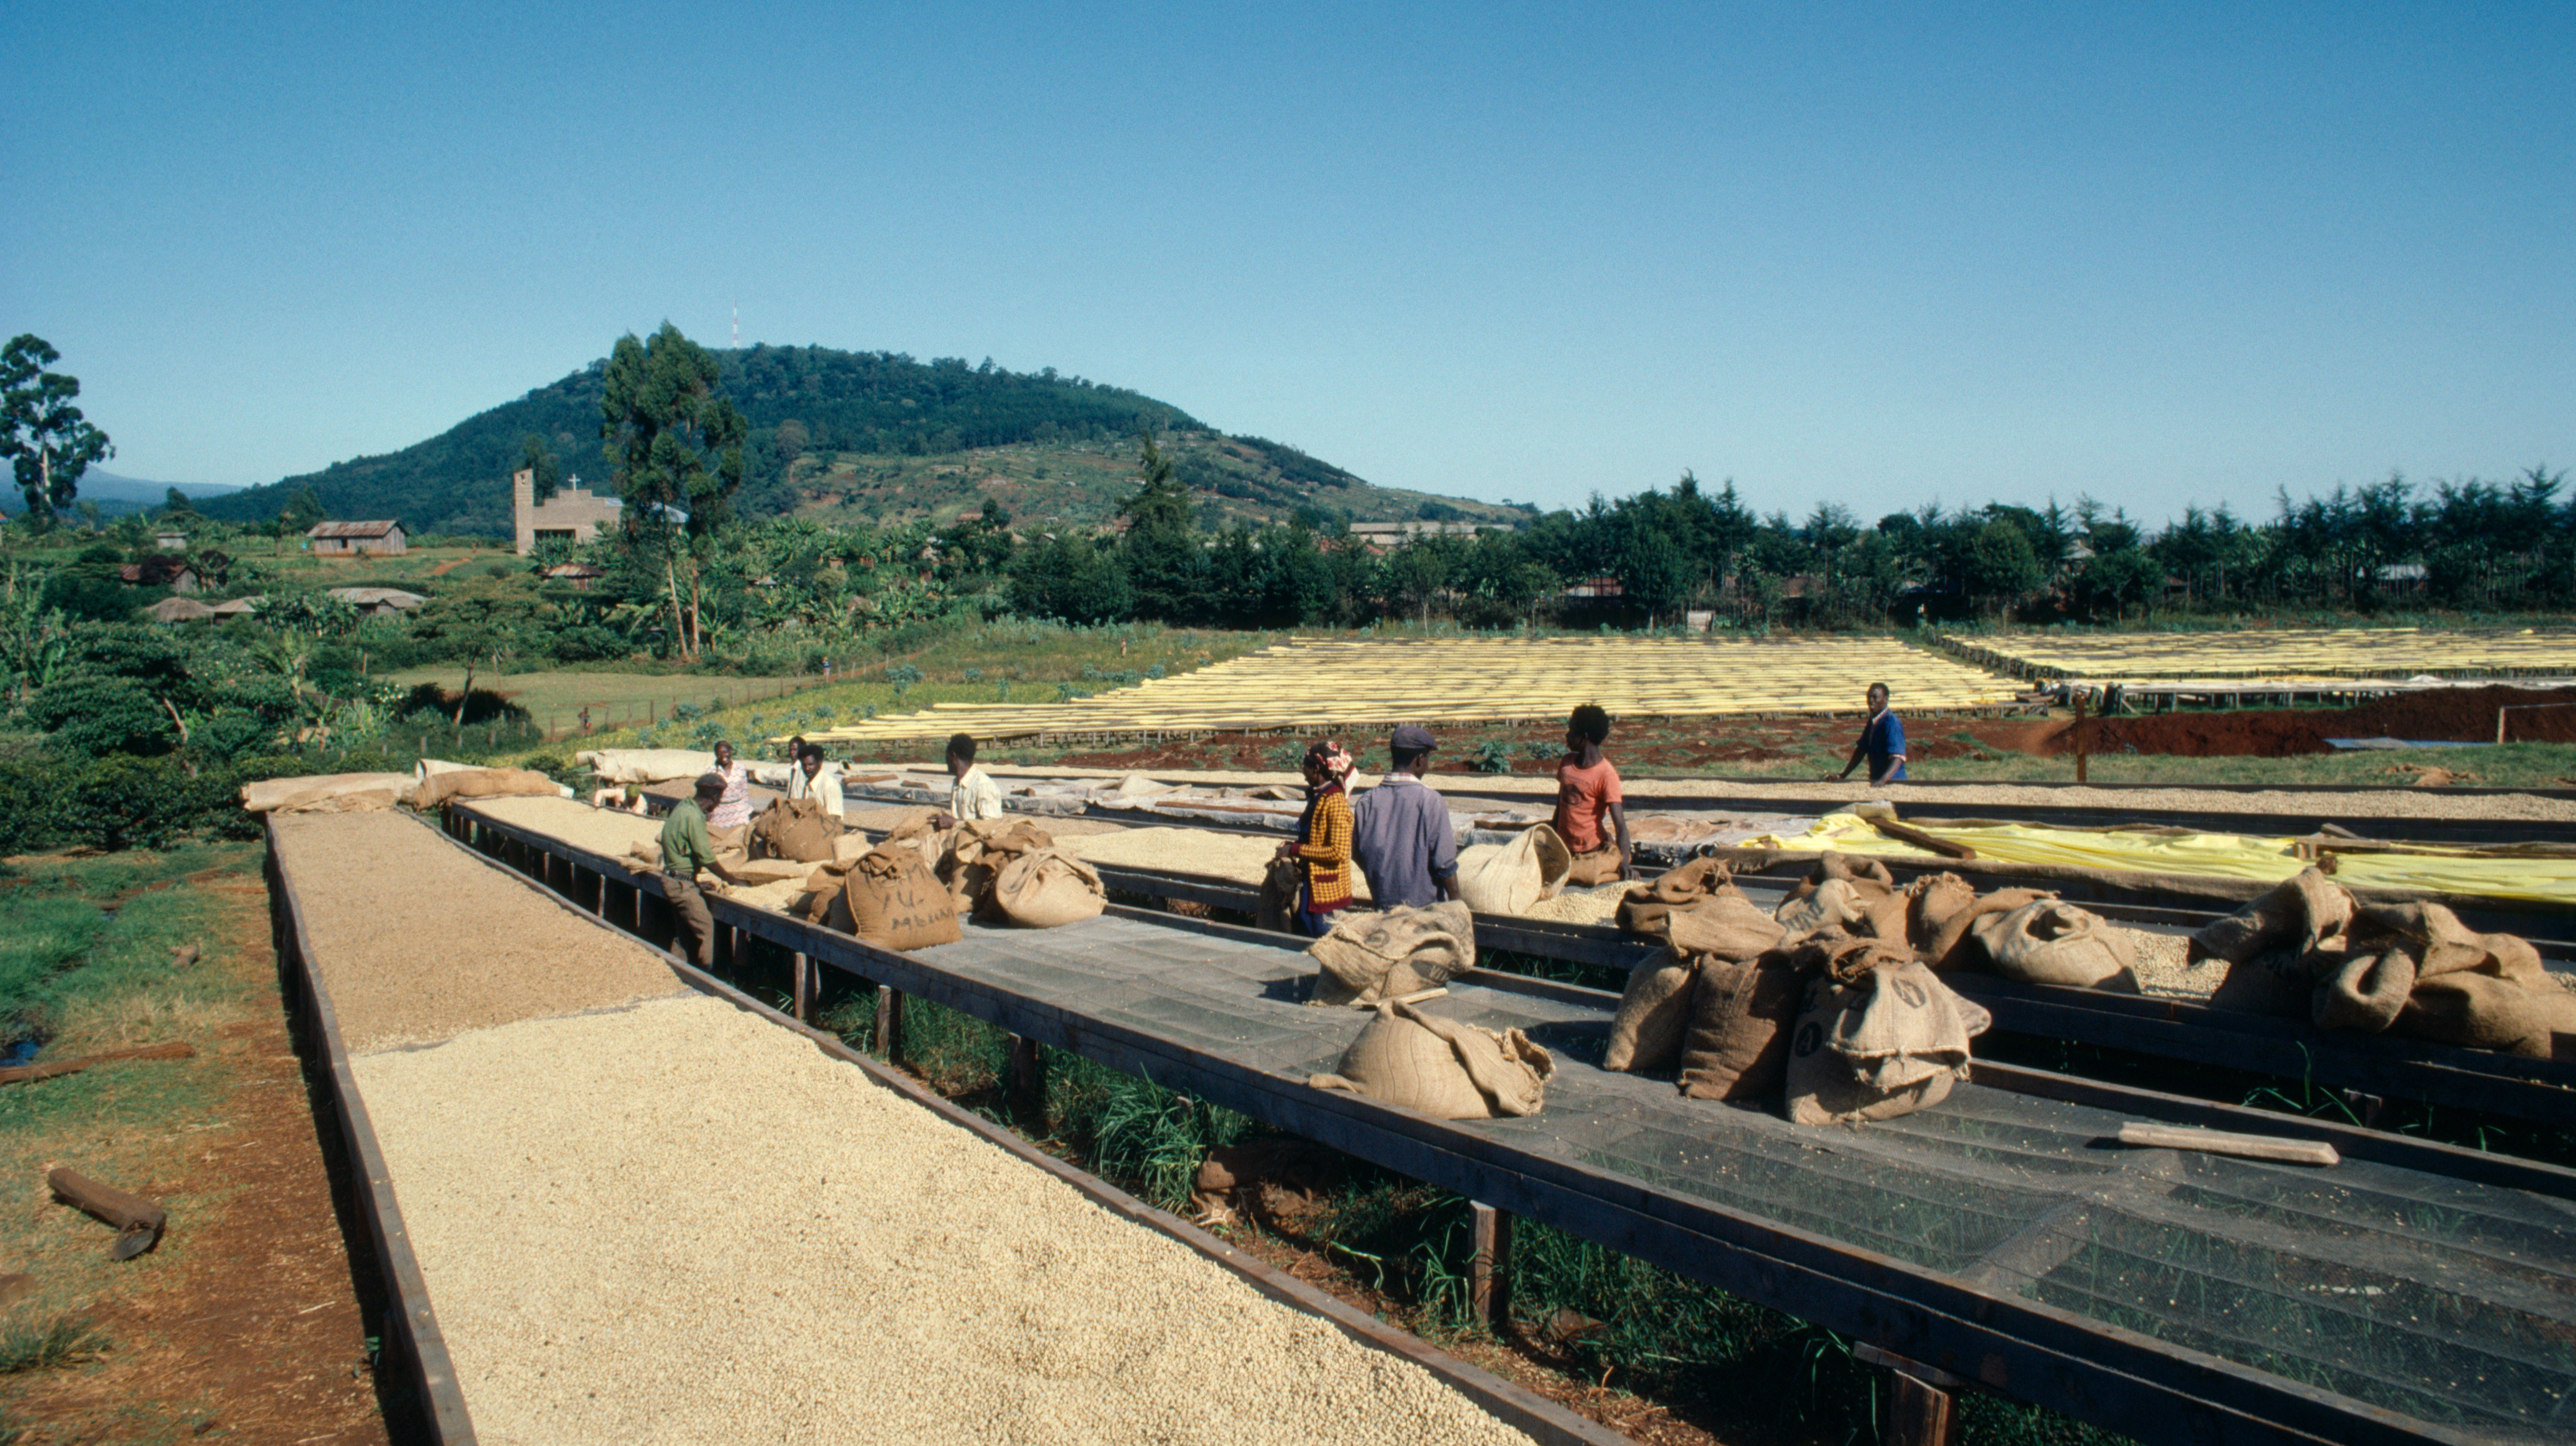
[[[752,425],[737,513],[894,521],[1002,500],[1025,523],[1100,523],[1133,487],[1133,438],[1167,438],[1203,521],[1285,518],[1298,508],[1355,521],[1512,516],[1484,503],[1388,492],[1262,438],[1229,438],[1141,392],[987,361],[912,361],[819,345],[719,351],[724,392]],[[567,477],[605,490],[605,361],[384,456],[337,461],[206,500],[234,521],[278,516],[312,490],[332,518],[402,518],[415,534],[510,534],[510,472],[538,436]]]

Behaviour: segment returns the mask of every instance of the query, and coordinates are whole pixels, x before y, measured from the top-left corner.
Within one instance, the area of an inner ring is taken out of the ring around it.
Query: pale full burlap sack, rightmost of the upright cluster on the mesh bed
[[[1950,1098],[1994,1023],[1919,961],[1808,985],[1788,1057],[1795,1124],[1896,1119]]]

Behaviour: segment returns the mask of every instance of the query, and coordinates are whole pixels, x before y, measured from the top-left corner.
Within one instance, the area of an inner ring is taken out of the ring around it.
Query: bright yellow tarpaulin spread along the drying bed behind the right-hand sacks
[[[1922,825],[1911,825],[1922,827]],[[2061,863],[2133,874],[2195,874],[2277,884],[2308,866],[2290,838],[2236,833],[2107,833],[2087,827],[1978,825],[1927,827],[1932,838],[1965,843],[1976,856],[2004,863]],[[1878,853],[1886,858],[1940,858],[1940,853],[1888,838],[1857,815],[1826,815],[1806,833],[1767,833],[1739,848]],[[2429,889],[2491,900],[2576,905],[2576,858],[2468,858],[2458,853],[2336,853],[2334,882],[2349,889]]]

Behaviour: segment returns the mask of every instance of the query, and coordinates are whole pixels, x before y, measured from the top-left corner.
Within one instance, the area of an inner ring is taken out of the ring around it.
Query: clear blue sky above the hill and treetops
[[[2563,3],[10,5],[0,52],[0,330],[137,477],[394,451],[737,299],[1489,500],[2576,467]]]

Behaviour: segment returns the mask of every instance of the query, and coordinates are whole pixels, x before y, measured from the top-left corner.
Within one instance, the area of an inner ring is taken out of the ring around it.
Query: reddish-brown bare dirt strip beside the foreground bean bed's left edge
[[[224,1072],[214,1119],[173,1121],[160,1170],[121,1183],[222,1204],[170,1222],[173,1237],[185,1232],[183,1271],[93,1315],[111,1338],[98,1364],[8,1382],[8,1418],[26,1425],[15,1446],[386,1443],[314,1095],[276,985],[268,889],[255,874],[193,887],[227,905],[206,967],[237,969],[263,998],[216,1031],[211,1059],[188,1065]]]

